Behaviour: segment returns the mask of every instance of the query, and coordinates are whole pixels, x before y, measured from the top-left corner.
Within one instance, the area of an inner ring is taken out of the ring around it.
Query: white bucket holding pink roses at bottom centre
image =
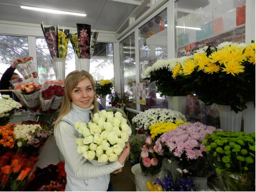
[[[163,179],[166,176],[166,171],[160,171],[157,174],[154,174],[153,176],[144,176],[142,170],[141,170],[141,165],[136,164],[133,165],[131,168],[131,172],[135,176],[135,185],[136,185],[136,191],[149,191],[147,188],[147,182],[155,182],[156,178]]]

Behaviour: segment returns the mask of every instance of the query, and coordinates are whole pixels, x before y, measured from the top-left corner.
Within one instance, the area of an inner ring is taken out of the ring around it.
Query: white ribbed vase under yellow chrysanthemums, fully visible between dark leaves
[[[225,131],[241,131],[242,112],[234,112],[230,106],[217,104],[219,108],[220,129]]]

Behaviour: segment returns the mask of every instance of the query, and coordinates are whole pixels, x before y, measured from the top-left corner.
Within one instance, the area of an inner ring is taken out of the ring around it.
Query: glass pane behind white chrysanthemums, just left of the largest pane
[[[147,67],[158,60],[167,59],[167,9],[139,27],[139,82],[146,84],[146,102],[141,111],[149,108],[168,108],[167,99],[161,97],[154,83],[144,76]]]

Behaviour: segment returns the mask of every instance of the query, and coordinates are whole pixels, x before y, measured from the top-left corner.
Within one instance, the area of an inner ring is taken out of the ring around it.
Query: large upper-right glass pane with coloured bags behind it
[[[175,6],[177,57],[206,45],[245,43],[246,0],[178,0]]]

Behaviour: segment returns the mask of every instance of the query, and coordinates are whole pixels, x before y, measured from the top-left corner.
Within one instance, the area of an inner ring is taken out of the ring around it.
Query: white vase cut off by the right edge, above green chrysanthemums
[[[243,112],[243,131],[255,133],[255,106],[252,101],[246,103],[247,109]]]

